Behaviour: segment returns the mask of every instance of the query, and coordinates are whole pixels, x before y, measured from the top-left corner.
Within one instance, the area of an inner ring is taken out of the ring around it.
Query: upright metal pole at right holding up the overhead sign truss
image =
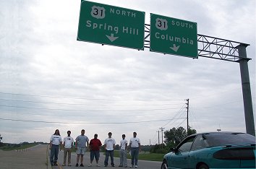
[[[249,70],[248,70],[248,61],[246,53],[247,44],[240,44],[236,48],[239,51],[239,65],[240,65],[240,74],[242,81],[242,92],[244,98],[244,117],[245,117],[245,126],[247,134],[255,136],[255,122],[253,118],[253,109],[252,109],[252,94],[251,87],[249,83]]]

